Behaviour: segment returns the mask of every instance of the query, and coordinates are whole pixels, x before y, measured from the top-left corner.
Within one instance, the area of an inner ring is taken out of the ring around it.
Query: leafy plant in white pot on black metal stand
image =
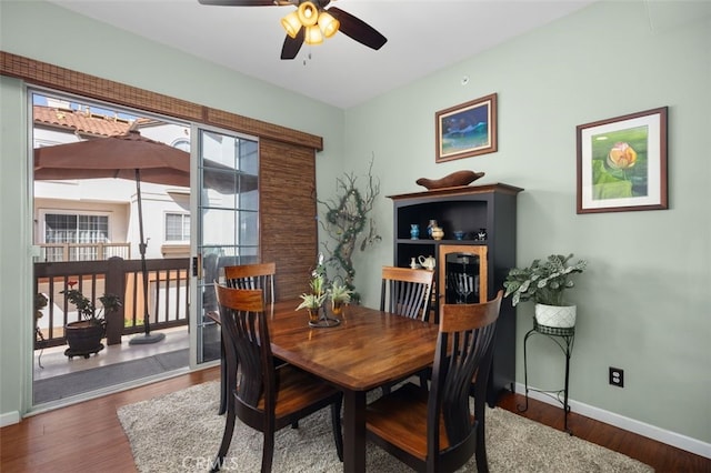
[[[563,301],[563,291],[575,285],[570,276],[582,273],[588,262],[579,260],[569,264],[572,258],[572,253],[568,256],[551,254],[545,261],[533,260],[528,268],[513,268],[503,282],[504,295],[512,295],[514,306],[519,302],[534,301],[535,320],[541,325],[574,326],[577,306]]]

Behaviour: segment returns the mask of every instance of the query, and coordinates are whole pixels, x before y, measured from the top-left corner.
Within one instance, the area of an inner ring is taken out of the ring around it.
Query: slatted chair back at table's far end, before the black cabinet
[[[428,321],[433,281],[432,270],[383,266],[380,310]]]

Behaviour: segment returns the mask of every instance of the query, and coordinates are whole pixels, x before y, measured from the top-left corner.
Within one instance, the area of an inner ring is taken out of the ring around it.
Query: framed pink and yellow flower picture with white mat
[[[668,209],[667,107],[577,127],[578,213]]]

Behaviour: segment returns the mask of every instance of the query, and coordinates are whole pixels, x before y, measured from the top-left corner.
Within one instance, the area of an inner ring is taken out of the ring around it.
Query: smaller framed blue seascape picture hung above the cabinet
[[[461,103],[434,114],[435,162],[445,162],[498,150],[497,94]]]

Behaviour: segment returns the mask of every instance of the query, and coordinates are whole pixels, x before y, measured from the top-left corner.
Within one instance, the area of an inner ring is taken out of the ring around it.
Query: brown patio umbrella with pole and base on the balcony
[[[144,333],[130,343],[153,343],[164,335],[150,333],[148,311],[147,243],[143,238],[141,182],[190,187],[190,154],[166,143],[142,137],[137,130],[126,134],[38,148],[34,150],[36,180],[101,179],[136,180],[137,205],[143,274]],[[214,161],[203,160],[203,187],[229,194],[257,189],[257,177],[238,174]]]

